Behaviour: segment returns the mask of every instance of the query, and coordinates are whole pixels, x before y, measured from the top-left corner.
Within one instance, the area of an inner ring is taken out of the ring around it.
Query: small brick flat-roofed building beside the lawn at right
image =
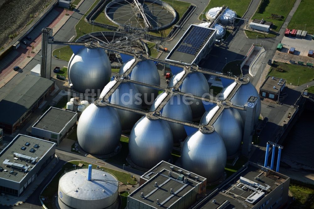
[[[281,94],[285,87],[285,79],[268,76],[259,88],[259,95],[264,98],[277,100],[278,97],[280,97],[279,94]]]

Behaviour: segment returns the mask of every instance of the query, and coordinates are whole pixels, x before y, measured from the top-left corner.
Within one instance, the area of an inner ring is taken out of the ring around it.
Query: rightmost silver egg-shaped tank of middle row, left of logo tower
[[[216,105],[202,117],[200,124],[208,124],[219,107]],[[241,146],[243,136],[243,122],[238,110],[225,108],[213,124],[215,131],[225,142],[227,156],[234,155]]]

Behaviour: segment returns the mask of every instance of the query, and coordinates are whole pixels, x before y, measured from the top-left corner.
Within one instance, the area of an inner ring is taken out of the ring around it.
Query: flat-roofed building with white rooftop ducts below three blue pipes
[[[289,184],[288,176],[249,162],[193,209],[279,208],[288,201]]]

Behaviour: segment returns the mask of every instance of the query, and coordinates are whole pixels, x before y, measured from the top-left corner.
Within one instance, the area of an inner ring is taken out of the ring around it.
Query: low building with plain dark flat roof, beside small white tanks
[[[31,128],[31,135],[51,142],[60,142],[76,126],[78,114],[50,107]]]

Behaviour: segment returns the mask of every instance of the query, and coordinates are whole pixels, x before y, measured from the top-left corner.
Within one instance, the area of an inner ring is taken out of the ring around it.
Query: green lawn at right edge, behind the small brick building
[[[284,72],[279,72],[279,68],[283,69]],[[270,68],[268,75],[286,79],[286,83],[292,83],[292,85],[296,86],[298,85],[299,78],[299,85],[312,81],[314,79],[314,69],[297,64],[275,62]]]

